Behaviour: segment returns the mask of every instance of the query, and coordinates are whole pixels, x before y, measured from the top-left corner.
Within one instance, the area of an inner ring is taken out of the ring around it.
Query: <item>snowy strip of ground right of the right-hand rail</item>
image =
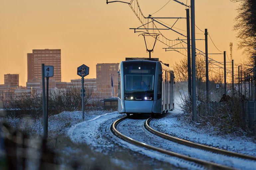
[[[256,156],[256,143],[251,138],[233,135],[217,136],[206,129],[198,129],[177,119],[177,112],[170,112],[151,120],[150,126],[162,133],[187,141]]]

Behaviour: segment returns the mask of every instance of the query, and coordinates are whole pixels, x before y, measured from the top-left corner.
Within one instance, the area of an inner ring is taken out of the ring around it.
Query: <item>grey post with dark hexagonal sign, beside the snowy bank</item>
[[[81,97],[82,97],[82,119],[84,119],[84,96],[85,96],[85,90],[84,90],[84,77],[89,74],[89,67],[86,65],[81,65],[77,67],[77,75],[81,76]]]

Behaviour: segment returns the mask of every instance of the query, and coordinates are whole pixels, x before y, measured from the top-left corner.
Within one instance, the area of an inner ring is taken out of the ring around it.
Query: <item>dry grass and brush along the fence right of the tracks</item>
[[[192,121],[192,103],[189,97],[181,97],[182,114],[179,119],[195,126],[211,129],[215,134],[235,134],[238,136],[250,135],[251,132],[245,123],[245,113],[243,111],[242,99],[233,97],[226,102],[221,102],[213,114],[201,113],[200,101],[198,101],[198,117]],[[213,109],[213,108],[208,108]]]

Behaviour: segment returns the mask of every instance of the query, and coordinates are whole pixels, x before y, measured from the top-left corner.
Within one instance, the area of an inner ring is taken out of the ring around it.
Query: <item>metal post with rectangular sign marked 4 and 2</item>
[[[44,64],[42,64],[44,138],[47,138],[48,136],[49,77],[53,77],[53,73],[54,73],[53,66],[45,66]],[[46,77],[46,101],[45,101],[45,77]]]

